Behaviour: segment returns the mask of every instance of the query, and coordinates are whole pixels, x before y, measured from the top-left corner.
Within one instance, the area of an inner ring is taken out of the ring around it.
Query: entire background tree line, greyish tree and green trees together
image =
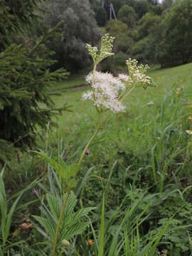
[[[127,58],[161,67],[191,61],[191,0],[50,0],[43,5],[43,26],[52,28],[59,21],[60,38],[49,47],[58,61],[53,69],[64,67],[73,73],[90,65],[85,43],[97,43],[103,33],[115,36],[115,57],[104,69],[121,67]],[[117,21],[110,21],[110,3]],[[42,27],[43,27],[42,26]],[[41,27],[41,28],[42,28]],[[113,61],[112,61],[113,60]]]

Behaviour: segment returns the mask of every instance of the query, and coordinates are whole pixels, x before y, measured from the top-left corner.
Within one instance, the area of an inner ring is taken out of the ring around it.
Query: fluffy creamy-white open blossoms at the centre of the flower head
[[[82,100],[92,100],[100,110],[102,107],[112,112],[124,111],[124,105],[119,102],[119,92],[124,90],[124,83],[119,78],[114,78],[110,73],[100,73],[95,71],[86,77],[92,90],[82,95]]]

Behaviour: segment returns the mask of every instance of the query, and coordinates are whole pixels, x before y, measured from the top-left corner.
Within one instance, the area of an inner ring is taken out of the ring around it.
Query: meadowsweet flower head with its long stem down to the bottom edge
[[[52,241],[51,244],[53,245],[52,256],[55,256],[55,253],[57,253],[60,238],[62,237],[62,240],[68,239],[68,237],[62,235],[64,231],[61,227],[63,226],[63,223],[65,223],[63,222],[63,218],[67,215],[70,195],[73,193],[73,188],[76,186],[76,177],[78,175],[78,171],[80,170],[82,160],[84,159],[85,154],[87,154],[93,139],[95,139],[100,131],[102,122],[104,122],[102,119],[102,114],[107,111],[112,113],[124,112],[125,105],[123,101],[137,85],[144,85],[145,87],[154,85],[151,78],[144,74],[148,66],[138,65],[137,60],[127,60],[128,75],[120,74],[118,77],[114,77],[114,75],[110,73],[101,73],[97,71],[97,65],[102,60],[114,55],[114,53],[112,53],[113,41],[114,38],[106,34],[102,37],[100,49],[98,49],[96,46],[90,46],[90,44],[87,44],[86,46],[88,53],[92,57],[94,65],[92,72],[86,77],[86,82],[88,85],[90,85],[90,90],[87,90],[87,92],[82,95],[82,100],[92,101],[97,112],[98,122],[95,132],[92,134],[92,137],[87,142],[85,149],[82,151],[78,163],[67,165],[63,162],[63,160],[56,162],[53,159],[50,159],[46,154],[37,152],[49,162],[53,169],[55,169],[60,177],[60,180],[65,186],[63,206],[60,207],[60,214],[57,215],[57,222],[56,225],[54,223],[53,228],[54,232],[50,238]],[[56,205],[57,204],[55,203],[55,206]],[[54,211],[54,209],[52,210]],[[38,220],[40,219],[38,218]],[[41,225],[43,225],[42,221]],[[46,229],[46,225],[44,228]],[[82,231],[82,229],[80,231]],[[78,234],[80,231],[78,232],[78,230],[75,230],[74,234]]]

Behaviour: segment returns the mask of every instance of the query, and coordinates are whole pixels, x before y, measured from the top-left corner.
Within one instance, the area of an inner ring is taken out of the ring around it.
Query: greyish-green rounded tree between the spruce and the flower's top
[[[48,26],[52,27],[63,21],[62,37],[60,40],[52,41],[58,66],[74,71],[84,68],[90,60],[85,50],[85,43],[94,44],[100,37],[90,2],[50,0],[46,7],[49,13],[45,17],[45,22]]]

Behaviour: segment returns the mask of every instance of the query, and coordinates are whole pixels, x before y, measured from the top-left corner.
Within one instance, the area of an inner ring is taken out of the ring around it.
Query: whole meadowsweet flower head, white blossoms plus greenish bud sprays
[[[154,86],[153,80],[145,75],[148,65],[138,65],[137,60],[127,60],[128,75],[119,74],[118,78],[110,73],[97,72],[97,65],[112,53],[114,38],[108,34],[102,37],[101,48],[87,44],[88,53],[92,56],[94,68],[92,73],[87,75],[86,82],[90,85],[88,90],[82,95],[82,100],[91,100],[97,112],[111,110],[112,112],[122,112],[125,110],[122,101],[137,85],[144,87]]]

